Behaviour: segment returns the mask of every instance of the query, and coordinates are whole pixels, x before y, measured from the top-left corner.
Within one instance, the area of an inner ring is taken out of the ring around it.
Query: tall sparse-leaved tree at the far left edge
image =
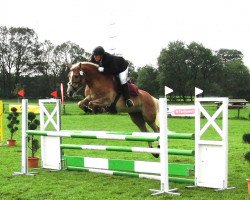
[[[19,83],[21,74],[33,60],[32,50],[37,43],[34,30],[24,27],[0,28],[1,34],[1,68],[3,86],[7,97],[10,96],[14,85]]]

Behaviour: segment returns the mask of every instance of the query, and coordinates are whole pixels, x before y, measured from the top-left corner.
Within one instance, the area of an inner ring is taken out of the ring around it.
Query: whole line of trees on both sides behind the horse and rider
[[[50,97],[60,83],[66,88],[68,64],[90,56],[70,41],[54,45],[40,42],[33,29],[0,26],[0,98],[14,98],[20,89],[29,98]],[[131,80],[155,97],[164,93],[166,85],[174,90],[171,98],[183,101],[194,96],[194,87],[206,96],[250,100],[250,72],[242,52],[235,49],[213,51],[197,42],[173,41],[161,50],[158,66],[129,62]]]

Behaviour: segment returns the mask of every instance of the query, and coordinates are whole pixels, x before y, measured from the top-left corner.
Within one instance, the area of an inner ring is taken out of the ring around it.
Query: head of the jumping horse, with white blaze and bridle
[[[84,71],[81,69],[81,63],[69,65],[70,72],[68,74],[69,82],[67,87],[68,97],[72,97],[85,86]]]

